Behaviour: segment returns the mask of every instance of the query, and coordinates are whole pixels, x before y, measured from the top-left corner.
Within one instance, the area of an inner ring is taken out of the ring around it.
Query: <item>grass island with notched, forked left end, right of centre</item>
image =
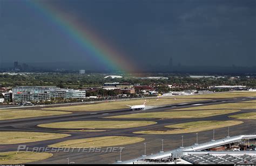
[[[194,132],[201,132],[207,131],[210,129],[228,127],[242,124],[242,121],[236,120],[227,120],[227,121],[193,121],[193,122],[186,122],[183,124],[176,124],[176,125],[168,125],[165,127],[169,128],[177,128],[171,129],[167,131],[140,131],[134,132],[135,134],[181,134],[181,133],[194,133]]]

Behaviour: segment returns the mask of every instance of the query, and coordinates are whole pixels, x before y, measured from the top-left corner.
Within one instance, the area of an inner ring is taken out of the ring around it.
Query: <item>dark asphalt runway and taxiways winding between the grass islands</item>
[[[164,139],[164,149],[171,150],[181,146],[181,135],[184,135],[184,146],[192,145],[196,141],[196,133],[185,133],[185,134],[133,134],[136,131],[143,130],[165,130],[164,126],[178,124],[183,122],[198,121],[198,120],[231,120],[228,116],[232,114],[240,114],[244,112],[255,112],[256,110],[241,110],[240,112],[224,114],[213,117],[206,118],[176,118],[176,119],[146,119],[150,121],[156,121],[157,124],[142,126],[136,128],[125,128],[125,129],[107,129],[105,132],[68,132],[60,131],[58,128],[43,128],[38,127],[39,124],[47,124],[51,122],[59,121],[77,121],[77,120],[110,120],[104,119],[104,117],[109,116],[119,116],[130,113],[141,113],[141,112],[160,112],[164,110],[171,109],[180,109],[185,107],[194,107],[194,106],[205,106],[213,104],[223,104],[223,103],[237,103],[244,102],[246,100],[255,100],[255,98],[249,97],[237,97],[237,98],[225,98],[225,99],[213,99],[199,102],[190,102],[185,104],[172,104],[166,105],[164,107],[158,107],[155,109],[144,110],[144,111],[131,111],[128,109],[123,110],[110,110],[110,111],[93,111],[93,112],[73,112],[72,114],[65,114],[60,116],[49,116],[49,117],[37,117],[37,118],[24,118],[24,119],[13,119],[13,120],[2,120],[0,121],[0,131],[29,131],[29,132],[52,132],[52,133],[65,133],[71,134],[66,138],[55,139],[55,140],[46,140],[30,143],[19,143],[13,145],[0,145],[0,152],[2,151],[16,151],[18,145],[26,145],[29,149],[33,147],[47,147],[53,143],[62,142],[71,139],[82,139],[82,138],[92,138],[98,136],[139,136],[145,138],[146,144],[146,153],[154,154],[161,150],[161,140]],[[71,111],[72,112],[72,111]],[[191,111],[193,112],[193,111]],[[124,120],[124,119],[114,119],[114,120]],[[142,119],[125,119],[125,120],[142,120]],[[145,119],[143,119],[145,120]],[[239,119],[244,121],[244,124],[231,126],[230,135],[240,135],[240,134],[251,134],[256,133],[256,123],[253,119]],[[72,128],[71,128],[72,129]],[[227,127],[215,129],[214,139],[220,139],[227,136]],[[206,142],[213,138],[212,131],[204,131],[198,133],[198,141]],[[144,154],[144,142],[133,143],[131,145],[124,145],[120,147],[125,147],[122,151],[122,160],[130,160]],[[119,146],[117,146],[119,147]],[[105,150],[106,148],[103,148]],[[67,158],[69,157],[70,162],[75,162],[76,164],[84,163],[113,163],[116,160],[119,160],[120,153],[119,151],[114,152],[82,152],[75,149],[69,153],[64,151],[59,151],[58,153],[53,153],[53,156],[47,158],[46,160],[38,161],[35,163],[67,163]]]

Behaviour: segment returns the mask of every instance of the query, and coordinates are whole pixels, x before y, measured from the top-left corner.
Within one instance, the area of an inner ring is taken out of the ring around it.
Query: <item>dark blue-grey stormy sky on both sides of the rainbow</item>
[[[50,5],[86,22],[136,64],[255,66],[254,0],[62,0]],[[101,65],[23,0],[0,0],[2,63]]]

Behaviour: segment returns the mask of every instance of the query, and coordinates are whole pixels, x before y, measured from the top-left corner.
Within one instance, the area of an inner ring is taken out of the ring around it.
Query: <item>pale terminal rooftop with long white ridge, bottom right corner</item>
[[[252,135],[238,135],[227,137],[219,140],[212,140],[201,144],[194,144],[188,147],[180,147],[178,149],[160,152],[149,156],[141,156],[128,161],[119,161],[119,164],[151,164],[161,163],[168,161],[168,163],[175,163],[175,160],[186,161],[191,164],[237,164],[237,163],[255,163],[256,151],[255,147],[251,147],[249,150],[234,151],[227,149],[226,145],[242,142],[245,139],[256,139],[256,134]],[[224,146],[226,150],[212,151],[211,148]],[[249,146],[249,145],[248,145]],[[245,147],[246,148],[246,147]],[[175,160],[174,160],[175,159]],[[246,160],[247,159],[247,160]],[[146,163],[145,163],[146,162]],[[184,162],[181,162],[184,163]]]

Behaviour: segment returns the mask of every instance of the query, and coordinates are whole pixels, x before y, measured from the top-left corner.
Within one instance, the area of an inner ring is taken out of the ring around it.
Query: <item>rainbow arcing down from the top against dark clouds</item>
[[[117,49],[107,45],[89,26],[85,26],[85,23],[73,19],[72,16],[66,15],[59,8],[46,3],[46,1],[28,0],[25,2],[32,6],[36,12],[42,13],[57,28],[60,28],[72,42],[83,48],[87,53],[86,56],[92,56],[100,64],[104,64],[107,69],[121,71],[122,73],[137,71],[133,65],[134,63],[127,58],[127,55],[125,56]]]

